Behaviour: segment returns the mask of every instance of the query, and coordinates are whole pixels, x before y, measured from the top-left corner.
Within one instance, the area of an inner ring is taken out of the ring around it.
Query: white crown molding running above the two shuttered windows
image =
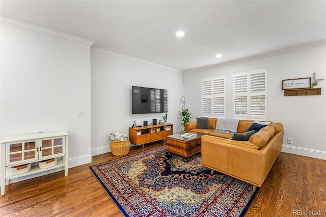
[[[191,72],[203,71],[203,70],[207,70],[207,69],[213,69],[213,68],[218,68],[218,67],[222,67],[222,66],[229,66],[229,65],[234,65],[234,64],[238,64],[238,63],[244,63],[244,62],[250,62],[250,61],[254,61],[254,60],[264,59],[264,58],[268,58],[268,57],[274,57],[274,56],[283,55],[286,53],[301,51],[301,50],[325,46],[325,45],[326,45],[326,40],[316,41],[316,42],[312,42],[309,44],[304,44],[304,45],[289,47],[289,48],[285,48],[285,49],[281,49],[281,50],[275,50],[275,51],[271,51],[271,52],[261,53],[260,55],[246,57],[246,58],[233,60],[233,61],[229,61],[229,62],[225,62],[225,63],[204,66],[204,67],[200,67],[200,68],[196,68],[196,69],[189,69],[189,70],[185,70],[183,72],[191,73]]]

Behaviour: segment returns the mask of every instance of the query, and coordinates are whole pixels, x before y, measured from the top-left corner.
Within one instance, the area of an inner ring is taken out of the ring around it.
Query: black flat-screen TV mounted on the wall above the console
[[[168,90],[132,86],[132,114],[167,113]]]

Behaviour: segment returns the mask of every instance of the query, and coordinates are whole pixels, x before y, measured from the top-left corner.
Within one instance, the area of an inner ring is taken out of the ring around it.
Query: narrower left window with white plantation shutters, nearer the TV
[[[202,115],[224,115],[224,76],[202,79]]]

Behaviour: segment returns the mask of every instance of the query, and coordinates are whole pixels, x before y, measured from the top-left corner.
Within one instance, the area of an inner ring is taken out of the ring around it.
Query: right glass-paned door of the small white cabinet
[[[65,137],[52,137],[40,139],[39,159],[49,159],[65,154]]]

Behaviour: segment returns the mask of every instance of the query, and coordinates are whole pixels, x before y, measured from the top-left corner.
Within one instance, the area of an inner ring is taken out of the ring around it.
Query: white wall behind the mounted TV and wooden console
[[[164,67],[114,55],[92,48],[92,155],[111,151],[110,133],[117,130],[129,134],[133,120],[143,125],[147,120],[162,120],[164,113],[131,114],[131,86],[168,90],[168,123],[181,130],[178,111],[184,93],[183,74]]]

